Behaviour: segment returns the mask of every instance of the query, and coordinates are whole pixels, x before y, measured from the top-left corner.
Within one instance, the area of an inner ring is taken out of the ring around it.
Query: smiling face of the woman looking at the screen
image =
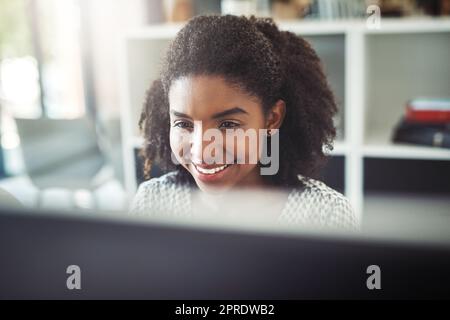
[[[259,166],[254,161],[261,153],[262,138],[258,133],[273,127],[276,121],[273,116],[267,119],[258,100],[219,76],[182,77],[172,83],[170,146],[202,191],[220,192],[234,186],[262,184]],[[244,143],[238,141],[238,136],[227,139],[227,134],[237,132],[236,129],[251,129],[256,138],[250,134]],[[208,137],[208,131],[216,138]],[[217,139],[217,134],[221,139]]]

